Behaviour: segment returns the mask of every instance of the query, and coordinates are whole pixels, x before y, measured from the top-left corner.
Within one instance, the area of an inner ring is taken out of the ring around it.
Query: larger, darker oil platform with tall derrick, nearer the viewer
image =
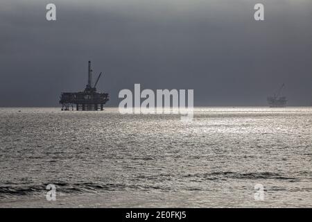
[[[60,104],[62,110],[96,111],[103,110],[103,105],[109,101],[108,93],[96,92],[96,84],[101,77],[100,73],[96,79],[96,83],[92,87],[92,69],[91,62],[88,62],[88,84],[83,92],[62,92],[60,96]]]

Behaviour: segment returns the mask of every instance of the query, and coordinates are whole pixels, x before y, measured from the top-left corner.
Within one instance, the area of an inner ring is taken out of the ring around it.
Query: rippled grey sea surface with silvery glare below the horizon
[[[0,108],[0,207],[312,207],[311,146],[312,108]]]

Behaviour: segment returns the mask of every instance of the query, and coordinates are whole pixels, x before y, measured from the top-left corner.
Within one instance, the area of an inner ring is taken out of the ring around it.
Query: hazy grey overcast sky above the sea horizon
[[[85,89],[88,60],[110,106],[135,83],[194,89],[195,105],[266,105],[285,83],[289,105],[309,105],[311,22],[311,0],[1,0],[0,106],[57,106]]]

